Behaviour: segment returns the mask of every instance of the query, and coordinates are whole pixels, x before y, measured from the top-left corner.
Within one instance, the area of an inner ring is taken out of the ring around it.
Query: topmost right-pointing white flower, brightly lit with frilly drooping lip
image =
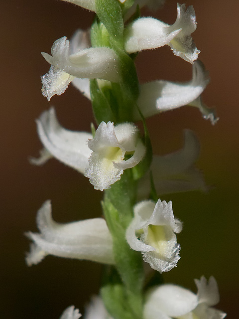
[[[191,37],[197,27],[195,11],[192,5],[187,10],[185,4],[177,5],[177,19],[172,25],[150,17],[138,18],[130,23],[124,34],[126,52],[154,49],[167,44],[175,55],[193,63],[200,53]]]

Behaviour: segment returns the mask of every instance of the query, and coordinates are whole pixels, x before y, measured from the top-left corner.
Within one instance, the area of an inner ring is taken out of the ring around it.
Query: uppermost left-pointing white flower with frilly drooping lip
[[[42,94],[50,98],[62,94],[75,78],[104,79],[119,82],[118,58],[114,50],[108,47],[87,48],[87,32],[78,30],[73,43],[62,37],[51,48],[51,55],[42,52],[52,66],[42,76]]]

